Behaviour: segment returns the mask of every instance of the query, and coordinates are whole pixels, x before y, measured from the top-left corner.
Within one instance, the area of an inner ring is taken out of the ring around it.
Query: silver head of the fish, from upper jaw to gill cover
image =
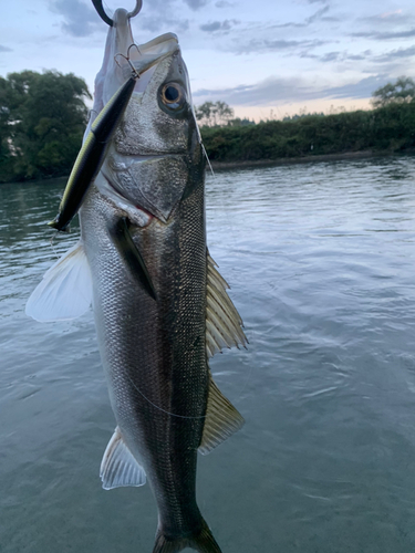
[[[120,28],[127,35],[129,25]],[[132,36],[117,43],[126,48],[129,40]],[[120,66],[107,71],[106,79],[115,81],[116,75],[125,81],[132,66],[139,77],[102,166],[104,179],[96,182],[106,195],[115,191],[166,223],[190,182],[205,171],[189,76],[177,36],[167,33],[146,44],[129,45],[127,55],[117,56],[116,64]]]

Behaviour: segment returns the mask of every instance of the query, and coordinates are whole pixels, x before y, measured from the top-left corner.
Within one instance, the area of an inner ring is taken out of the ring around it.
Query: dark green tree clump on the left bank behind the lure
[[[87,122],[85,96],[72,73],[0,77],[0,181],[68,175]]]

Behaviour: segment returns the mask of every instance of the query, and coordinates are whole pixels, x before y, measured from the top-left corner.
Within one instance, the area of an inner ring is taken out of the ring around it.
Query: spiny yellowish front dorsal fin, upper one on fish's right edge
[[[242,331],[242,320],[227,294],[226,280],[216,269],[216,263],[207,253],[207,298],[206,298],[206,352],[211,357],[224,347],[248,343]]]

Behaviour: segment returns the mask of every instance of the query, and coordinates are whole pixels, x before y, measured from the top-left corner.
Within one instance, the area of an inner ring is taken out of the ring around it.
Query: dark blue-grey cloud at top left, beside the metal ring
[[[72,36],[87,36],[101,24],[95,10],[80,0],[53,0],[50,9],[63,15],[62,29]]]

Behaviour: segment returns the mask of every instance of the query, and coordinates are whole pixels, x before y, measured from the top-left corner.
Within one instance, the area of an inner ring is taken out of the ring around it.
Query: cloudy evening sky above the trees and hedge
[[[91,0],[2,0],[0,13],[1,76],[53,69],[93,92],[108,28]],[[367,108],[377,87],[415,79],[413,0],[143,0],[132,27],[138,44],[178,35],[196,105],[256,121]]]

